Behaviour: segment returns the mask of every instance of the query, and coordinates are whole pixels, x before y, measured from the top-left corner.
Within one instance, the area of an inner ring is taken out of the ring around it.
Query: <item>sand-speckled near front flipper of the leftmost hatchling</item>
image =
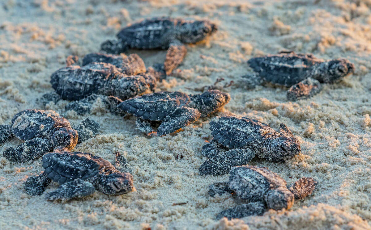
[[[20,144],[15,149],[10,147],[4,150],[3,156],[9,161],[24,163],[35,160],[52,149],[53,146],[49,140],[34,138]]]

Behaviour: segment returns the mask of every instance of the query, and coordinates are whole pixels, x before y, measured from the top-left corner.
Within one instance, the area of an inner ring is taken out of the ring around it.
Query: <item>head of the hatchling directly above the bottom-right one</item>
[[[265,158],[272,161],[290,159],[301,151],[299,140],[290,136],[272,137],[269,148],[270,154],[267,154]]]

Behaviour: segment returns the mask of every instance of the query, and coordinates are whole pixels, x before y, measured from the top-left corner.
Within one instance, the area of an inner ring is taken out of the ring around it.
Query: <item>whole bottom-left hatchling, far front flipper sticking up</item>
[[[114,165],[91,153],[68,151],[45,154],[42,163],[45,171],[37,177],[27,178],[23,184],[30,196],[41,195],[51,181],[60,186],[46,194],[47,200],[70,200],[89,196],[95,190],[108,195],[135,190],[133,176],[126,171],[126,167],[118,167],[127,163],[119,153],[116,153]]]

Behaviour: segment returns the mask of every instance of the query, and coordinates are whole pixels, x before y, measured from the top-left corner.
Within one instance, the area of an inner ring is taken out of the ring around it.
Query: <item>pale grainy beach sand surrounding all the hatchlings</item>
[[[313,196],[286,211],[240,220],[216,220],[236,205],[232,196],[211,198],[208,186],[225,176],[200,176],[200,154],[210,140],[209,121],[183,131],[146,137],[133,117],[116,116],[94,105],[89,115],[101,135],[78,144],[113,160],[124,154],[137,192],[92,196],[69,202],[30,197],[22,183],[42,171],[40,160],[10,163],[0,157],[0,229],[371,229],[371,1],[370,0],[4,0],[0,3],[0,123],[9,124],[23,109],[52,109],[78,124],[85,116],[64,111],[67,101],[43,107],[37,98],[52,91],[50,74],[70,55],[98,51],[128,23],[154,16],[207,18],[219,26],[208,41],[187,46],[188,54],[173,76],[157,90],[199,93],[192,89],[225,80],[232,100],[226,111],[265,122],[286,123],[301,142],[301,154],[285,163],[260,159],[288,183],[311,176],[319,182]],[[323,59],[347,58],[355,73],[325,84],[308,100],[289,102],[286,89],[271,85],[249,90],[240,76],[251,73],[246,61],[282,50],[313,53]],[[164,60],[165,51],[130,50],[147,67]],[[189,89],[187,89],[189,88]],[[219,113],[219,115],[222,113]],[[4,149],[20,144],[12,139]],[[46,192],[56,189],[50,184]],[[176,203],[186,203],[173,205]]]

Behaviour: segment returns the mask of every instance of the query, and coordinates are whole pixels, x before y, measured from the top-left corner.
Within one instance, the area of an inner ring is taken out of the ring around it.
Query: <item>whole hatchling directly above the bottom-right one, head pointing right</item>
[[[233,166],[248,163],[255,156],[284,161],[300,153],[300,143],[289,128],[281,123],[276,132],[265,123],[247,117],[215,117],[210,121],[213,140],[202,147],[207,156],[199,169],[200,175],[223,175]],[[221,152],[220,149],[227,149]]]

